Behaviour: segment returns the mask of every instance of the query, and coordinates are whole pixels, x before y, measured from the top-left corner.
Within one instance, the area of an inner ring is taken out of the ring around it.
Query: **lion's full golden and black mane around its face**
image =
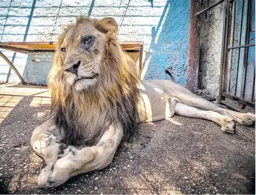
[[[106,34],[105,54],[98,84],[88,90],[77,91],[66,82],[60,47],[71,27],[88,21]],[[64,28],[58,39],[54,65],[47,81],[52,95],[52,117],[59,127],[64,128],[65,140],[69,144],[95,144],[109,125],[116,122],[122,124],[125,139],[137,130],[139,80],[136,64],[123,51],[116,32],[116,26],[106,19],[78,18],[75,25]]]

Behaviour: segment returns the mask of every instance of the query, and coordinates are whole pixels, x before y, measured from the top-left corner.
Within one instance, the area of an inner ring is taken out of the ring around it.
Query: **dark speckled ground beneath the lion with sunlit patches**
[[[255,127],[234,135],[201,119],[174,116],[140,125],[111,165],[40,189],[43,160],[30,147],[33,129],[50,112],[44,87],[0,85],[0,193],[255,194]]]

